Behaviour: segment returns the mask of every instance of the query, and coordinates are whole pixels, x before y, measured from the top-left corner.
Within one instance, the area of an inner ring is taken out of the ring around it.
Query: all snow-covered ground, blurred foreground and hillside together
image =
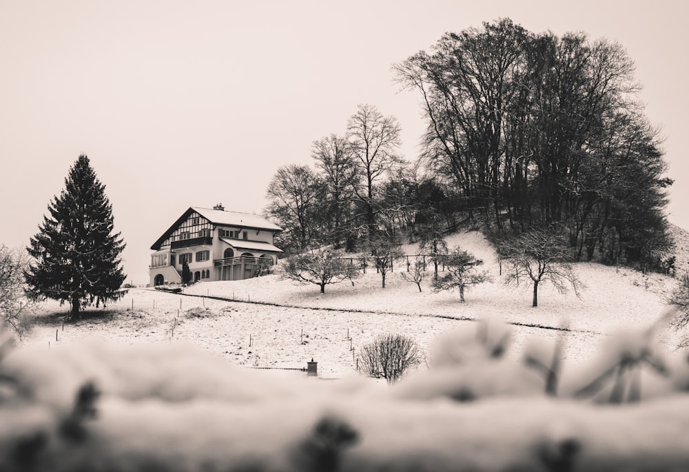
[[[45,304],[21,347],[0,341],[0,471],[689,470],[676,280],[582,263],[582,298],[545,285],[532,308],[480,234],[448,243],[493,276],[466,303],[396,265],[385,289],[369,270],[322,295],[270,275],[132,289],[74,321]],[[356,372],[387,333],[427,361],[390,387]],[[318,378],[247,368],[311,358]]]

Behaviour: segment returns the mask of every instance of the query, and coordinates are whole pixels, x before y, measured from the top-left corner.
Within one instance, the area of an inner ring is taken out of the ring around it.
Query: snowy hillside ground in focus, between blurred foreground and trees
[[[652,325],[675,286],[659,274],[581,263],[577,273],[587,286],[581,298],[542,284],[539,306],[533,308],[531,287],[502,284],[495,252],[480,233],[455,234],[448,243],[482,258],[493,276],[493,282],[467,291],[465,303],[454,292],[433,293],[430,276],[419,292],[400,276],[405,263],[388,274],[385,289],[380,275],[369,268],[353,286],[349,281],[327,285],[325,294],[317,285],[299,285],[272,274],[197,283],[183,295],[131,289],[119,302],[64,327],[66,307],[46,302],[25,342],[48,349],[49,342],[54,348],[94,337],[128,344],[187,341],[245,367],[305,367],[313,358],[320,376],[342,378],[356,373],[358,349],[378,334],[405,334],[429,351],[440,334],[473,326],[467,318],[497,318],[513,324],[513,356],[531,338],[562,335],[546,328],[566,325],[571,331],[565,336],[564,359],[571,365],[590,358],[601,337],[611,331]],[[418,248],[407,245],[404,252],[415,254]],[[674,338],[668,331],[661,334],[668,349]]]

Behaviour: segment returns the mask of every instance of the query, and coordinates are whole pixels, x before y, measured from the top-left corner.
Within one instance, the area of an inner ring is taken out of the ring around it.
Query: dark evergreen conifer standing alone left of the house
[[[69,302],[72,317],[126,293],[120,259],[125,244],[120,233],[112,234],[112,205],[104,191],[88,157],[79,156],[27,248],[35,259],[25,274],[30,294]]]

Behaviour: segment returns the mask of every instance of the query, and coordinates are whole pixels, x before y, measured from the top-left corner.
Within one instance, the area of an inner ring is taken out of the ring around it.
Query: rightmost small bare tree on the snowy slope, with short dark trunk
[[[520,285],[531,281],[534,307],[538,306],[538,286],[544,280],[561,294],[566,293],[569,285],[578,297],[584,284],[577,278],[563,247],[557,236],[543,230],[533,229],[516,238],[504,238],[498,248],[508,265],[504,283]]]

